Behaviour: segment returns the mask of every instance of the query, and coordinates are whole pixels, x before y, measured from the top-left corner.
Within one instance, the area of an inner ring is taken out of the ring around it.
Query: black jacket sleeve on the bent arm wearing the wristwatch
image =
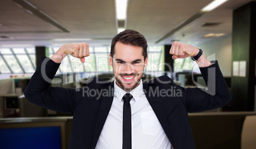
[[[218,61],[209,67],[201,67],[201,74],[208,89],[187,88],[183,90],[183,102],[188,112],[212,110],[225,106],[232,95],[224,80]]]

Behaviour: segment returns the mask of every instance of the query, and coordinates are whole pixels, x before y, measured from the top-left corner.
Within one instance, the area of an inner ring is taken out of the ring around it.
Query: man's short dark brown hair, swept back
[[[121,43],[124,43],[125,45],[136,45],[143,48],[142,55],[144,57],[144,60],[148,56],[148,53],[146,52],[148,48],[148,44],[146,43],[145,37],[140,34],[137,31],[134,31],[132,29],[126,29],[125,31],[120,32],[112,39],[111,43],[111,50],[110,55],[113,57],[115,54],[115,44],[117,41],[120,41]]]

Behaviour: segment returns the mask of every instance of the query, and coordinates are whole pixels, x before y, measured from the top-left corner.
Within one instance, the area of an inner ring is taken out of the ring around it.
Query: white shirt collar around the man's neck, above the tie
[[[121,89],[120,87],[118,87],[117,80],[114,81],[114,96],[117,97],[118,101],[122,101],[122,98],[124,97],[124,94],[128,93],[125,90]],[[142,80],[140,80],[140,83],[138,85],[138,87],[136,87],[135,89],[131,90],[131,92],[129,92],[130,94],[132,94],[132,99],[134,99],[135,101],[138,101],[139,98],[143,95],[145,95],[144,91],[143,91],[143,83]]]

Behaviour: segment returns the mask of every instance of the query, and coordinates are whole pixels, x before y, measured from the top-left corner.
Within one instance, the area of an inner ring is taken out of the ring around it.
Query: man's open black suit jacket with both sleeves
[[[93,78],[83,89],[49,88],[50,82],[46,80],[52,80],[58,68],[59,64],[48,58],[41,60],[25,89],[25,97],[50,110],[73,113],[69,148],[95,148],[113,102],[114,84]],[[208,73],[210,70],[213,71]],[[217,61],[201,68],[201,73],[205,82],[211,84],[210,94],[203,89],[180,87],[167,76],[143,83],[148,102],[175,149],[196,148],[188,112],[219,108],[231,100]]]

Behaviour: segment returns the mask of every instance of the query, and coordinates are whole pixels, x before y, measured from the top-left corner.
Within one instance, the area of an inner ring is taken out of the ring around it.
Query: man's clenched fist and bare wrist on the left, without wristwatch
[[[66,43],[50,59],[56,63],[60,63],[68,54],[79,58],[81,62],[85,62],[85,57],[90,55],[89,45],[87,43]]]

